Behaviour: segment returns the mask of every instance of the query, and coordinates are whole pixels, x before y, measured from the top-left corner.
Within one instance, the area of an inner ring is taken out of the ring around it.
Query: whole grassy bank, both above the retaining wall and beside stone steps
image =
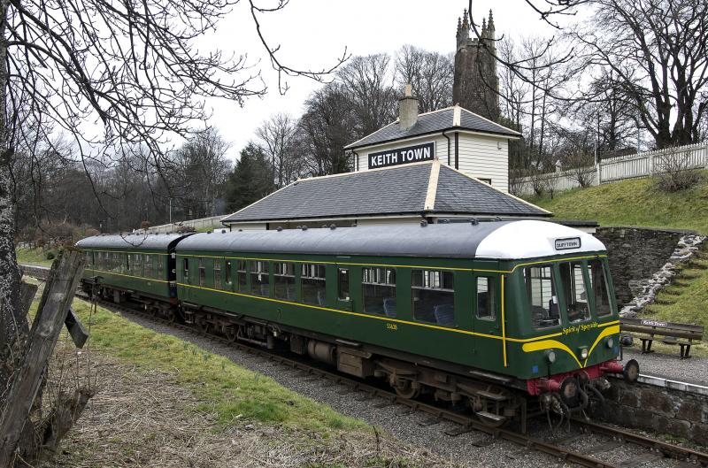
[[[601,226],[650,226],[692,229],[708,234],[708,171],[704,182],[674,194],[658,192],[655,180],[625,180],[528,201],[553,211],[558,219],[595,219]],[[708,245],[685,265],[672,286],[644,311],[646,317],[708,326]],[[708,337],[705,337],[708,340]],[[708,354],[705,342],[697,354]]]

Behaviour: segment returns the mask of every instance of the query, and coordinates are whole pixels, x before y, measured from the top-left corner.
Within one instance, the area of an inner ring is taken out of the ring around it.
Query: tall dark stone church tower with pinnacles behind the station
[[[467,11],[458,19],[458,47],[452,102],[489,120],[499,119],[499,80],[496,77],[494,18],[482,19],[481,39],[470,38]]]

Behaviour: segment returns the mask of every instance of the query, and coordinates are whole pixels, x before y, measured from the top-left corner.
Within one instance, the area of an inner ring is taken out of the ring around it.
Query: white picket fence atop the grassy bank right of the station
[[[671,161],[672,163],[669,163]],[[608,157],[599,164],[581,169],[571,169],[548,173],[536,177],[512,180],[512,192],[517,195],[533,195],[534,185],[551,187],[560,192],[581,186],[579,180],[587,180],[589,185],[599,185],[617,180],[650,177],[663,173],[666,164],[677,164],[685,169],[708,169],[708,142],[645,151],[635,155]]]

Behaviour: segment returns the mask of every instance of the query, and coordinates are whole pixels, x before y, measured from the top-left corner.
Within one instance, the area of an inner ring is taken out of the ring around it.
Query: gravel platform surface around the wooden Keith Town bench
[[[623,357],[625,361],[636,359],[639,372],[645,375],[708,386],[708,359],[705,357],[681,359],[678,349],[673,354],[642,354],[641,345],[625,348]]]

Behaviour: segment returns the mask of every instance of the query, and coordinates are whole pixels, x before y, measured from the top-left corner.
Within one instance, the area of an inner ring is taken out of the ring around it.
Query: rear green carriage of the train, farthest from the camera
[[[90,290],[94,279],[99,292],[119,303],[128,296],[176,302],[174,246],[185,234],[96,235],[77,242],[86,268],[81,280]]]

